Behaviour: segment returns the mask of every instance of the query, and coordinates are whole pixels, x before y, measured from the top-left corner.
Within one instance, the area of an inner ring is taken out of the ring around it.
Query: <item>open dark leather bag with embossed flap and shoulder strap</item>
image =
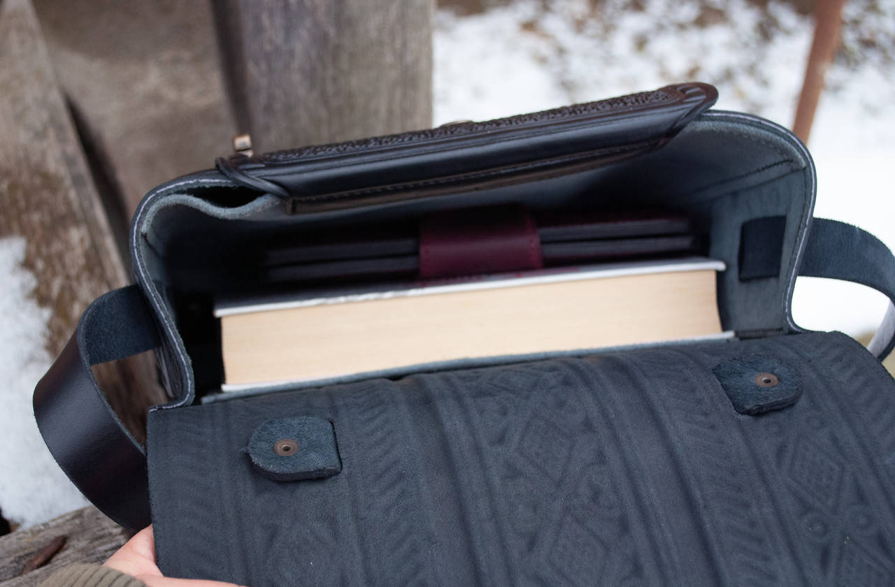
[[[869,352],[790,312],[799,275],[895,299],[895,259],[853,226],[813,220],[805,147],[710,110],[715,99],[684,83],[231,157],[159,186],[133,218],[136,285],[84,312],[38,384],[47,445],[115,521],[154,523],[173,576],[895,584],[895,384],[879,362],[892,307]],[[251,251],[271,234],[507,203],[685,214],[727,266],[718,306],[736,336],[212,393],[214,324],[193,312],[263,280]],[[90,365],[149,349],[171,402],[151,409],[143,447]],[[329,460],[284,469],[269,448],[290,435]]]

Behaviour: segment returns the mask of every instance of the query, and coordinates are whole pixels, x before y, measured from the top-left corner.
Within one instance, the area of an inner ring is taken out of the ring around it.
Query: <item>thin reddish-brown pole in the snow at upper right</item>
[[[845,0],[820,0],[815,8],[814,42],[808,55],[802,94],[798,98],[796,121],[792,125],[793,132],[805,144],[808,143],[814,112],[821,98],[823,79],[839,48],[844,5]]]

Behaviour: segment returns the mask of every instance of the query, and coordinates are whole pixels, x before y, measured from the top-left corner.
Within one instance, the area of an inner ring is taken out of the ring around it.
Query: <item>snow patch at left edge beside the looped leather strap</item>
[[[50,366],[44,349],[49,311],[30,293],[37,282],[21,268],[25,240],[0,239],[0,507],[15,523],[30,526],[85,506],[87,501],[55,464],[34,421],[31,390]]]

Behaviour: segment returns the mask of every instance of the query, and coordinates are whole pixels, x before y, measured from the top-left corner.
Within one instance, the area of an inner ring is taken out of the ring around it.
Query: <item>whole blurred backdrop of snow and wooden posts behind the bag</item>
[[[788,128],[802,97],[815,216],[895,246],[895,0],[0,0],[0,534],[86,505],[30,396],[127,282],[158,183],[241,132],[283,149],[690,80]],[[798,324],[865,340],[885,307],[804,277],[794,301]]]

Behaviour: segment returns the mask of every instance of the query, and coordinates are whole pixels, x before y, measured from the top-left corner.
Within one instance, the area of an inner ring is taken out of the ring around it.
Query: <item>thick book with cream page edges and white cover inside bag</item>
[[[221,300],[224,388],[728,336],[723,269],[664,259]]]

